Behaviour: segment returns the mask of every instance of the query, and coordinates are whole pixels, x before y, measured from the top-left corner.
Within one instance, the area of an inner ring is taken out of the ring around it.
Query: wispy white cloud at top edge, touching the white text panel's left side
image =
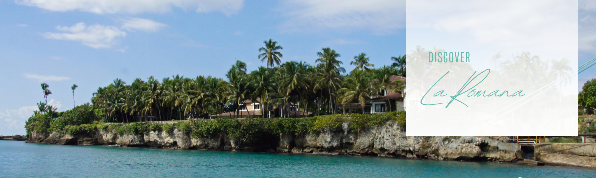
[[[289,17],[283,32],[370,30],[374,34],[395,33],[405,26],[404,0],[286,0],[281,11]]]

